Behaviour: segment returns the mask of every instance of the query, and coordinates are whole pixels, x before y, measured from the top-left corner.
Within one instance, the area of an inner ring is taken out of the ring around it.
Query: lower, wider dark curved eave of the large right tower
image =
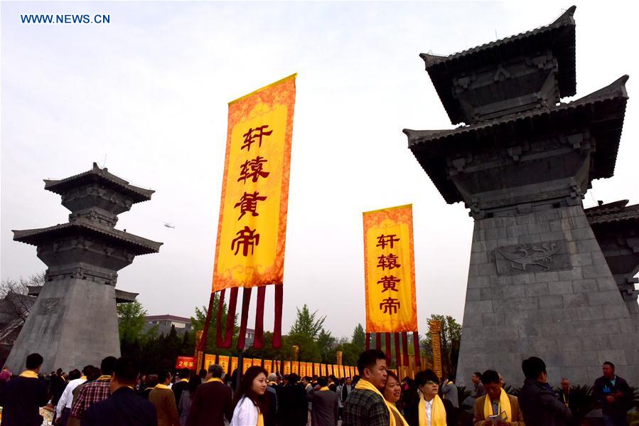
[[[593,152],[594,165],[590,179],[613,176],[628,93],[624,75],[601,90],[579,100],[559,105],[552,109],[533,110],[509,115],[450,130],[404,129],[411,149],[419,164],[429,175],[447,203],[462,201],[461,195],[446,175],[446,157],[462,153],[477,146],[498,143],[525,134],[538,134],[544,129],[561,129],[566,122],[581,122],[589,125],[597,141]]]

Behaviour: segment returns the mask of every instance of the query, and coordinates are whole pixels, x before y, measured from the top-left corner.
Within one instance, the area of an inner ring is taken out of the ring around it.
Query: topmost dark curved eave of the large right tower
[[[490,63],[499,63],[524,53],[549,48],[557,57],[559,73],[557,83],[560,97],[576,94],[575,21],[576,7],[572,6],[548,26],[526,31],[515,36],[485,43],[448,56],[421,53],[426,71],[435,86],[453,124],[463,122],[461,107],[453,97],[453,75],[475,70]]]

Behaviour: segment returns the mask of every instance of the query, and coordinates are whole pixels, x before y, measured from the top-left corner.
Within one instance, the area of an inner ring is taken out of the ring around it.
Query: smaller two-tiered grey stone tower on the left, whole
[[[115,229],[117,215],[149,201],[154,191],[133,186],[95,163],[85,173],[45,180],[44,188],[60,194],[71,214],[61,225],[14,230],[14,240],[38,247],[48,269],[6,365],[21,371],[26,356],[37,352],[44,358],[43,371],[99,366],[104,356],[120,353],[117,271],[162,245]]]

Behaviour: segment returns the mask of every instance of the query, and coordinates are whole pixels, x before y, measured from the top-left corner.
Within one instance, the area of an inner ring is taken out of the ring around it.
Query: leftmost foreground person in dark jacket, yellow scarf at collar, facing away
[[[39,353],[26,357],[26,370],[0,388],[3,426],[41,426],[40,407],[48,403],[48,385],[38,376],[44,362]]]

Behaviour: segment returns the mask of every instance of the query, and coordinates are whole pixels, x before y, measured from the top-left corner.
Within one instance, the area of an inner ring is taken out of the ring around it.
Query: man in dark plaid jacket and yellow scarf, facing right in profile
[[[344,403],[343,426],[388,426],[390,413],[382,394],[372,387],[382,389],[386,385],[386,356],[371,349],[361,353],[358,360],[360,382],[355,385]],[[369,389],[367,389],[369,388]]]

